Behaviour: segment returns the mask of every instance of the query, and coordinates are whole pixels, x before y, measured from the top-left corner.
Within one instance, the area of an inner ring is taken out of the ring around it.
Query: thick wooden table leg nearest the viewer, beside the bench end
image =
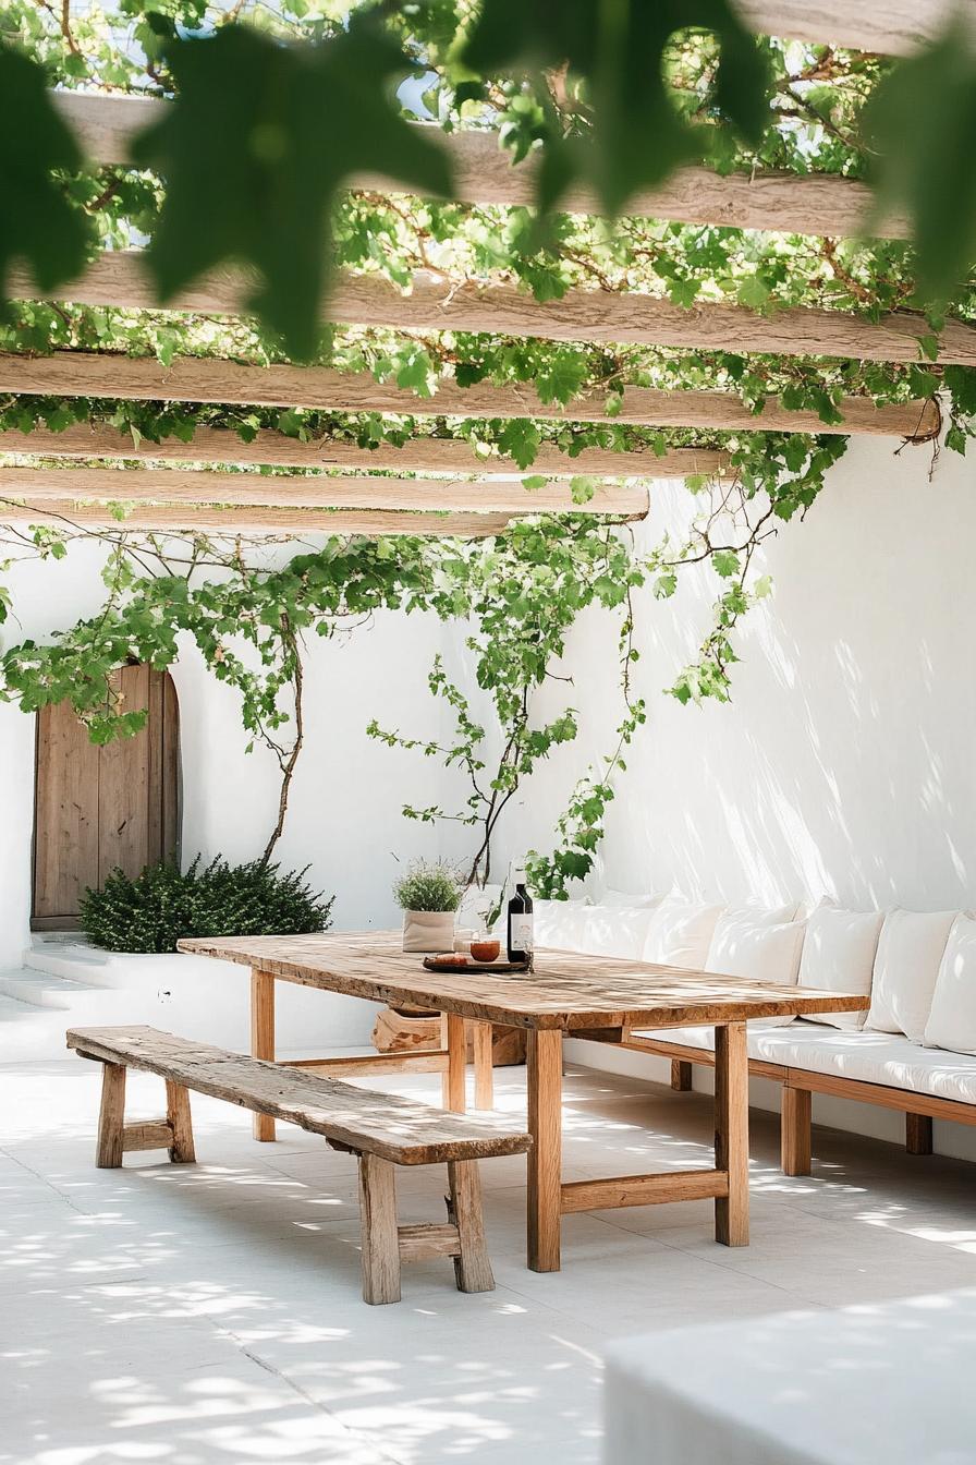
[[[528,1266],[559,1272],[562,1212],[562,1033],[528,1033]]]

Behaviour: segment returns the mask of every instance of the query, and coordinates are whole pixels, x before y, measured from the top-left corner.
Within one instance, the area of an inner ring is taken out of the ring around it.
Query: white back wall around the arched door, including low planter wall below
[[[100,565],[98,549],[85,546],[72,549],[67,560],[16,570],[18,621],[6,627],[3,643],[26,636],[47,640],[57,627],[92,614],[104,599]],[[459,857],[465,848],[457,826],[440,831],[401,816],[407,800],[423,807],[449,793],[451,781],[438,765],[366,737],[373,716],[410,734],[439,735],[442,709],[430,699],[426,678],[452,634],[433,615],[380,612],[353,637],[309,639],[307,741],[275,857],[285,869],[309,866],[309,880],[335,895],[338,930],[397,926],[391,886],[398,867],[421,854]],[[180,699],[183,858],[198,851],[205,860],[218,853],[233,861],[255,858],[277,816],[277,763],[260,746],[246,753],[237,694],[211,677],[189,640],[173,677]],[[35,719],[0,705],[0,971],[20,967],[31,941],[34,738]],[[246,974],[228,976],[228,968],[212,965],[211,984],[196,971],[180,982],[183,1008],[189,1011],[195,996],[200,1036],[234,1043],[240,1024],[225,989],[228,982],[243,983]],[[171,986],[171,976],[159,982]],[[135,987],[145,987],[142,977]],[[243,986],[239,1005],[243,1012]],[[364,1002],[279,987],[278,1040],[285,1052],[309,1043],[366,1043],[372,1023],[373,1009]]]

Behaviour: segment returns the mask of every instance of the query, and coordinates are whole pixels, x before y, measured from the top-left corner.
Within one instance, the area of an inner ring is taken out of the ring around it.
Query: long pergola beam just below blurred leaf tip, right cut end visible
[[[661,391],[626,387],[619,403],[584,394],[562,407],[543,403],[528,384],[458,387],[443,381],[433,397],[417,397],[366,372],[329,366],[247,366],[218,357],[179,356],[164,366],[152,356],[110,352],[54,352],[51,356],[0,353],[0,391],[19,396],[108,397],[127,401],[214,401],[227,406],[318,407],[323,412],[388,412],[410,416],[538,418],[553,422],[623,422],[634,426],[708,428],[723,432],[825,432],[929,438],[938,432],[935,401],[885,403],[846,397],[843,422],[828,425],[815,412],[790,412],[771,398],[754,413],[732,393]]]

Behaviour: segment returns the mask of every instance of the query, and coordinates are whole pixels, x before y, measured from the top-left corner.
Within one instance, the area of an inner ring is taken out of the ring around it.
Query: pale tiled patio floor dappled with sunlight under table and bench
[[[498,1078],[519,1113],[522,1069]],[[130,1116],[159,1087],[133,1075]],[[566,1093],[569,1176],[711,1163],[708,1099],[585,1069]],[[288,1128],[256,1146],[195,1097],[200,1165],[97,1171],[97,1105],[94,1065],[0,1068],[3,1465],[582,1465],[609,1338],[976,1285],[972,1166],[819,1131],[815,1175],[784,1179],[757,1113],[748,1250],[714,1244],[708,1203],[604,1212],[569,1217],[565,1270],[536,1276],[524,1160],[492,1160],[498,1291],[426,1263],[370,1308],[347,1156]],[[440,1219],[442,1190],[404,1173],[402,1219]]]

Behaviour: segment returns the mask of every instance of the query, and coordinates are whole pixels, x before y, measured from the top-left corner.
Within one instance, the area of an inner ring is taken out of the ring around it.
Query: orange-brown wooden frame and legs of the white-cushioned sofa
[[[672,1088],[677,1093],[691,1090],[695,1064],[701,1068],[716,1067],[716,1055],[708,1049],[669,1043],[660,1037],[625,1033],[620,1046],[670,1058]],[[773,1083],[783,1086],[780,1157],[784,1175],[811,1173],[814,1094],[833,1094],[837,1099],[856,1099],[860,1103],[900,1110],[904,1113],[904,1147],[909,1154],[932,1153],[932,1119],[976,1125],[976,1105],[957,1099],[938,1099],[934,1094],[872,1084],[862,1078],[841,1078],[838,1074],[817,1074],[808,1068],[768,1064],[759,1058],[749,1059],[749,1074],[754,1078],[771,1078]]]

